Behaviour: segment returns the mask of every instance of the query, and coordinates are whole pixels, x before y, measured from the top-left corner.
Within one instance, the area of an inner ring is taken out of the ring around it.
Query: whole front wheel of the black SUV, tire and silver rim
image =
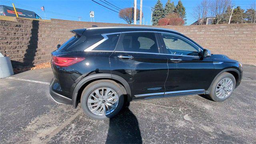
[[[221,84],[219,85],[219,82],[221,80],[224,80],[224,79],[226,80],[227,83],[229,83],[228,80],[232,80],[232,86],[227,86],[228,87],[228,91],[225,90],[225,86],[222,88],[222,85]],[[218,90],[216,90],[217,86],[218,86]],[[224,101],[224,100],[228,99],[231,96],[233,90],[235,89],[235,86],[236,86],[236,79],[235,79],[235,77],[232,74],[228,73],[228,72],[224,72],[224,73],[220,74],[220,76],[218,76],[216,78],[216,80],[214,80],[214,83],[212,84],[211,89],[210,89],[209,98],[212,99],[215,102]],[[223,96],[221,94],[221,91],[224,92]],[[230,92],[230,93],[228,94],[228,92]]]

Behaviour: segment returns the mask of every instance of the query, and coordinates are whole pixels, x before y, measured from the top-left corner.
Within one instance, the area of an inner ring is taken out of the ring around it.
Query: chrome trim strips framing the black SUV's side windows
[[[98,27],[95,27],[98,28]],[[105,27],[103,27],[105,28]],[[156,32],[156,33],[165,33],[165,34],[172,34],[169,32],[158,32],[158,31],[127,31],[127,32],[114,32],[114,33],[107,33],[107,34],[102,34],[102,36],[104,37],[104,39],[100,40],[99,42],[96,42],[95,44],[93,44],[92,46],[90,46],[89,48],[86,48],[84,51],[85,52],[90,52],[92,51],[94,48],[96,48],[98,45],[100,45],[102,42],[104,42],[105,40],[108,39],[107,35],[111,35],[111,34],[122,34],[122,33],[132,33],[132,32]],[[196,44],[194,44],[194,42],[191,42],[190,40],[178,35],[178,34],[172,34],[175,36],[178,36],[180,38],[183,38],[187,41],[189,41],[190,43],[192,43],[194,46],[196,46],[199,49],[199,52],[203,51],[200,47],[198,47]],[[120,52],[120,51],[119,51]],[[139,52],[133,52],[133,53],[139,53]],[[145,54],[158,54],[158,53],[148,53],[148,52],[144,52]],[[162,53],[159,53],[162,54]],[[164,54],[164,53],[163,53]],[[174,55],[174,56],[187,56],[187,55],[176,55],[176,54],[166,54],[166,55]],[[192,56],[192,57],[199,57],[199,56]]]

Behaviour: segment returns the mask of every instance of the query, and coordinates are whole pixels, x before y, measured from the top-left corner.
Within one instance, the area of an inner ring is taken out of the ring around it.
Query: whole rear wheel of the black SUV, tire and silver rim
[[[99,95],[102,95],[102,88],[104,88],[104,96],[107,96],[108,94],[110,94],[110,98],[115,97],[116,99],[112,99],[113,102],[114,100],[116,100],[116,102],[113,105],[108,105],[108,104],[112,104],[112,101],[108,101],[107,99],[104,99],[103,96],[99,97],[96,94],[96,91],[99,91]],[[106,94],[107,90],[106,89],[111,89],[110,92],[108,92],[108,94]],[[115,92],[115,93],[114,93]],[[113,93],[113,96],[112,96]],[[94,95],[94,96],[91,96]],[[116,94],[118,96],[118,98],[116,97]],[[97,100],[97,99],[98,100]],[[90,100],[89,100],[90,99]],[[96,103],[91,103],[92,99],[95,100]],[[104,102],[103,102],[104,101]],[[108,119],[108,118],[112,118],[113,116],[115,116],[116,114],[118,114],[118,112],[120,112],[120,110],[122,109],[123,105],[124,105],[124,92],[122,91],[122,88],[119,84],[117,84],[116,82],[112,81],[112,80],[97,80],[95,82],[92,82],[90,84],[88,84],[88,86],[86,86],[86,88],[84,88],[83,92],[82,92],[82,96],[81,96],[81,106],[82,109],[84,111],[84,113],[93,119],[98,119],[98,120],[104,120],[104,119]],[[97,109],[98,105],[104,105],[102,106],[102,109],[100,109],[100,107],[98,108],[98,110],[95,111],[95,109]],[[114,106],[116,104],[116,106]],[[94,106],[97,105],[97,106]],[[90,108],[89,108],[90,107]],[[105,107],[105,111],[104,108]],[[99,112],[99,114],[98,114]]]

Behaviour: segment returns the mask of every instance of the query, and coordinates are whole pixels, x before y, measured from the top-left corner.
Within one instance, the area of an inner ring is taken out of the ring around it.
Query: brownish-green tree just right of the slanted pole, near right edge
[[[245,18],[244,10],[241,9],[240,6],[238,6],[233,11],[230,23],[232,24],[244,23],[244,18]]]

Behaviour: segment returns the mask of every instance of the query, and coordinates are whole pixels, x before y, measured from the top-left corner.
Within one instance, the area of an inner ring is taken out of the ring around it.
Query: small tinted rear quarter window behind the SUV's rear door
[[[114,50],[116,48],[116,44],[118,42],[120,34],[111,34],[107,35],[108,39],[102,42],[102,44],[98,45],[93,50]]]

